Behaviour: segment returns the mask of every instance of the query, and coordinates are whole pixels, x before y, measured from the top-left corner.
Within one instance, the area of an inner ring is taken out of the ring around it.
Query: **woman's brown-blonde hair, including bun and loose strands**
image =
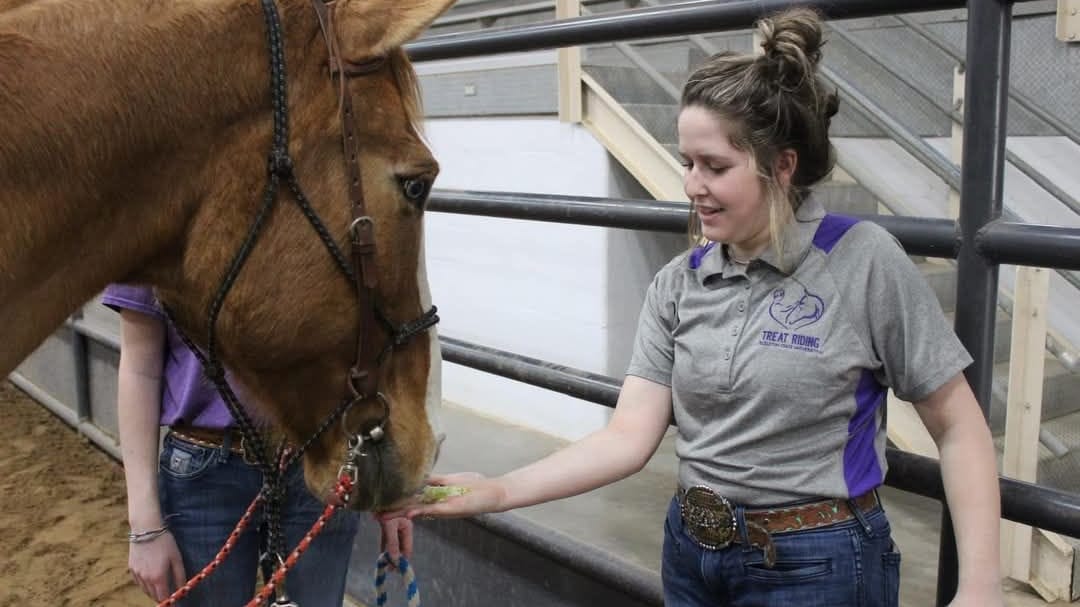
[[[795,218],[810,188],[836,163],[829,120],[839,102],[818,77],[824,45],[822,18],[810,9],[788,9],[757,22],[761,54],[717,53],[683,87],[681,108],[702,107],[732,129],[731,146],[747,152],[769,205],[769,239],[783,260],[778,235]],[[795,150],[791,187],[774,174],[779,154]],[[690,246],[701,244],[701,219],[691,206]]]

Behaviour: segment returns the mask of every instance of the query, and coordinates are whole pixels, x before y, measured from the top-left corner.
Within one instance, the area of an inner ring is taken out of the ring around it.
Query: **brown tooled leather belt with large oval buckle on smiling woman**
[[[700,547],[720,550],[732,542],[743,541],[738,529],[735,509],[724,496],[710,487],[698,485],[689,489],[679,488],[677,497],[683,526]],[[773,535],[805,531],[851,521],[855,515],[849,502],[854,502],[860,512],[868,512],[878,505],[877,493],[868,491],[851,500],[834,498],[782,508],[746,509],[743,512],[746,538],[751,545],[765,552],[765,565],[772,567],[777,562]]]

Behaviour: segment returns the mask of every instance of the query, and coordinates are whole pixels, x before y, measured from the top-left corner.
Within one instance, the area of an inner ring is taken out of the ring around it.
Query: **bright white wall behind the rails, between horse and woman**
[[[580,125],[554,117],[429,120],[441,189],[647,199]],[[429,213],[428,275],[440,333],[621,378],[645,288],[685,239]],[[447,363],[443,397],[565,439],[610,410]]]

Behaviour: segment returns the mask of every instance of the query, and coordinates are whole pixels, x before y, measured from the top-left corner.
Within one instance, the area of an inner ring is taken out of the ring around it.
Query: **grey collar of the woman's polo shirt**
[[[825,207],[813,195],[807,197],[795,211],[795,220],[784,229],[783,262],[777,257],[777,249],[773,246],[766,248],[759,259],[783,274],[791,274],[810,251],[814,233],[824,217]],[[696,248],[690,258],[691,267],[697,269],[698,279],[702,282],[716,274],[725,279],[746,274],[744,267],[728,258],[727,248],[715,242]]]

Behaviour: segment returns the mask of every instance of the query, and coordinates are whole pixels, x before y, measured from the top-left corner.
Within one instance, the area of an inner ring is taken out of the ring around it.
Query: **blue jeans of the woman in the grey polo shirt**
[[[742,511],[737,513],[743,528]],[[885,511],[820,529],[775,534],[777,563],[745,542],[706,550],[686,534],[678,500],[664,523],[665,607],[896,607],[900,552]]]

